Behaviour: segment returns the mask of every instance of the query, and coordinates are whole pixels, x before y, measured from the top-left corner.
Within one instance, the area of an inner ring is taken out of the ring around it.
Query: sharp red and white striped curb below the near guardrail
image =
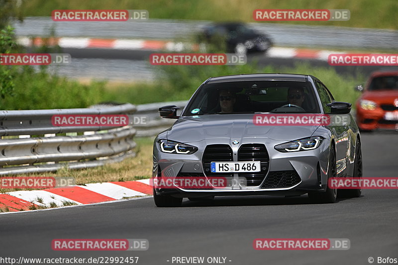
[[[115,201],[152,194],[150,179],[89,183],[43,190],[21,190],[0,194],[0,209],[10,212],[30,210],[38,206],[58,207],[70,203],[82,205]],[[34,206],[34,207],[33,207]]]

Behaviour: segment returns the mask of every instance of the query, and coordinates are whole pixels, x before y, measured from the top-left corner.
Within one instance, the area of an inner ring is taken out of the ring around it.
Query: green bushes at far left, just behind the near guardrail
[[[22,52],[15,43],[13,28],[0,31],[0,53]],[[38,52],[49,52],[40,47]],[[0,65],[0,108],[48,109],[78,108],[98,103],[104,97],[104,83],[90,86],[57,75],[50,75],[46,67],[35,71],[31,66]]]

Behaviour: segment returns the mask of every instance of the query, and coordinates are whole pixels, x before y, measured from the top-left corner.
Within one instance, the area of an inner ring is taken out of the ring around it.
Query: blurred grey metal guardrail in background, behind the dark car
[[[58,23],[56,31],[58,36],[63,37],[172,40],[192,36],[210,23],[203,20],[149,19],[140,21],[139,27],[132,28],[129,23],[70,21]],[[13,27],[17,36],[41,36],[53,24],[51,17],[25,17],[22,23],[15,22]],[[264,21],[252,22],[250,25],[269,35],[275,46],[398,49],[397,30],[278,24]]]

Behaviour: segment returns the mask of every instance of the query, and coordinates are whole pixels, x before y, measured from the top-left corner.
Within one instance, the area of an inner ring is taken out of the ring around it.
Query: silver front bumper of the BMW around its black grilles
[[[329,141],[326,139],[315,150],[281,153],[274,149],[275,145],[286,141],[273,140],[270,138],[246,138],[242,139],[239,145],[232,145],[231,139],[206,139],[199,142],[187,143],[197,146],[199,151],[192,155],[177,155],[163,153],[158,143],[154,145],[153,176],[154,177],[205,177],[217,176],[209,174],[203,165],[203,154],[206,146],[228,145],[233,153],[233,161],[238,160],[238,153],[241,146],[250,144],[265,145],[269,164],[262,179],[253,182],[251,186],[240,185],[239,178],[242,175],[231,174],[237,184],[229,188],[215,189],[165,189],[156,188],[157,194],[170,194],[178,197],[201,197],[201,196],[225,196],[225,195],[300,195],[308,191],[324,191],[327,184],[327,167],[329,158]],[[217,162],[217,161],[214,161]],[[263,164],[262,164],[263,165]],[[211,176],[210,176],[211,175]],[[218,175],[218,176],[223,176]],[[250,182],[247,178],[247,183]],[[258,177],[258,176],[257,176]],[[244,177],[245,178],[245,177]]]

